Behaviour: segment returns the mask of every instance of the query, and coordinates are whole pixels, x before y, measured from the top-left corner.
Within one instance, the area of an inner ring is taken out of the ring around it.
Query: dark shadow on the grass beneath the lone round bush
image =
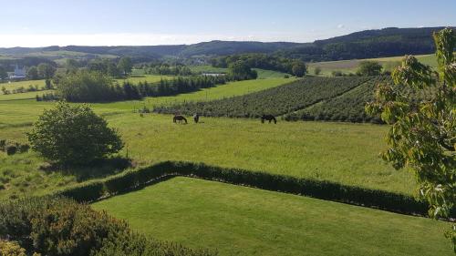
[[[90,163],[78,166],[62,166],[57,163],[47,163],[40,169],[47,172],[60,172],[65,175],[76,176],[78,182],[88,179],[100,179],[117,174],[134,167],[131,159],[114,157],[109,159],[96,159]]]

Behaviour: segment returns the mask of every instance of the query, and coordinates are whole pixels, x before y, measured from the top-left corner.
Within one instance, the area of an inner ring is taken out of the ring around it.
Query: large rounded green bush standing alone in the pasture
[[[108,128],[87,105],[58,102],[45,110],[27,134],[32,148],[62,164],[88,164],[118,152],[123,143],[116,130]]]

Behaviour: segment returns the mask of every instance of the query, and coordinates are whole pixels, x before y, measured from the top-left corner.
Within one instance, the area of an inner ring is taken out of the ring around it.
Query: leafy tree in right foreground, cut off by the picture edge
[[[419,195],[430,203],[430,216],[448,218],[456,204],[456,35],[451,28],[434,33],[438,71],[406,56],[392,74],[394,85],[378,85],[370,114],[390,125],[383,158],[396,169],[414,170]],[[417,99],[422,92],[429,97]],[[456,252],[456,225],[447,233]]]

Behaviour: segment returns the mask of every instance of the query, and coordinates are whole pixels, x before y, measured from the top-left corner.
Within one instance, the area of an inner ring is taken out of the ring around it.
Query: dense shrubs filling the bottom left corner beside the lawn
[[[210,255],[133,233],[105,211],[64,198],[0,203],[0,238],[43,255]]]

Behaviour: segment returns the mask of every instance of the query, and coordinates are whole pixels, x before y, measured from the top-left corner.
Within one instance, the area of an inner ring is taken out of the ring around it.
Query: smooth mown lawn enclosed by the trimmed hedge
[[[220,255],[452,255],[445,222],[202,179],[173,178],[92,207]]]

